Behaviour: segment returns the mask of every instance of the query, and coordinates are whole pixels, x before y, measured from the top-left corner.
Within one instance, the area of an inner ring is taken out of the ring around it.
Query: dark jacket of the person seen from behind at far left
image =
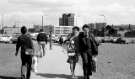
[[[28,34],[24,34],[18,37],[18,41],[16,44],[16,51],[18,52],[19,48],[21,47],[21,55],[26,55],[26,49],[33,49],[33,42]]]

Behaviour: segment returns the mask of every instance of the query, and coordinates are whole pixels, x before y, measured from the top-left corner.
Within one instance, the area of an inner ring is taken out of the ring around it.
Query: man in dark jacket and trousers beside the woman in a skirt
[[[83,32],[79,34],[79,51],[83,62],[84,79],[90,79],[92,72],[95,71],[94,59],[98,55],[98,43],[94,35],[90,33],[89,26],[82,27]]]

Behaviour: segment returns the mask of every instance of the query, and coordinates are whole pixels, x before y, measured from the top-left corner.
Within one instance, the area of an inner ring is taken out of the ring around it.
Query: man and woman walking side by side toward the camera
[[[82,27],[83,32],[80,32],[79,27],[73,27],[72,33],[68,35],[67,53],[70,63],[72,77],[75,78],[74,70],[79,56],[82,58],[84,79],[90,79],[92,72],[96,72],[96,56],[98,55],[99,43],[95,40],[94,35],[90,32],[89,26]]]

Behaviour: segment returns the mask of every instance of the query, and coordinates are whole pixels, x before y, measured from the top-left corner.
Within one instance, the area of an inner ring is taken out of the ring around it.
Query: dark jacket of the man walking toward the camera
[[[95,40],[94,35],[89,33],[89,37],[86,38],[83,32],[79,34],[79,51],[81,53],[89,52],[91,55],[98,55],[98,42]]]

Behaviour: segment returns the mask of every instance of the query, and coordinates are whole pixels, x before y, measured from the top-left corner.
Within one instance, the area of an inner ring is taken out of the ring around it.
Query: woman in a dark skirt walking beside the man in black
[[[78,35],[79,35],[79,27],[73,27],[72,33],[68,35],[67,40],[68,41],[68,60],[67,62],[70,64],[70,70],[72,74],[72,78],[75,78],[75,67],[76,63],[78,62],[78,54],[79,54],[79,45],[78,45]]]

